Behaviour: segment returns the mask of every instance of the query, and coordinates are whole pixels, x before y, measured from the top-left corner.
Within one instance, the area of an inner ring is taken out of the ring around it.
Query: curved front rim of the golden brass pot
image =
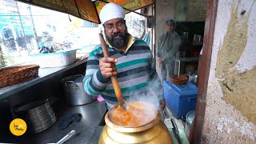
[[[120,125],[117,125],[114,122],[110,121],[109,112],[107,112],[105,115],[106,125],[109,126],[111,129],[114,129],[116,131],[123,132],[123,133],[133,133],[133,132],[148,130],[151,127],[153,127],[154,125],[156,125],[159,122],[159,120],[160,120],[160,113],[158,111],[156,118],[154,118],[152,121],[148,122],[146,125],[137,126],[137,127],[129,127],[129,126],[120,126]]]

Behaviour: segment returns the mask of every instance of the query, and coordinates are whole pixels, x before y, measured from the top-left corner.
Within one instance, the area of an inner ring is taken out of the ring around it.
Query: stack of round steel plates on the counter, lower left
[[[22,103],[12,109],[14,118],[22,118],[30,134],[37,134],[48,129],[56,122],[54,110],[49,99]]]

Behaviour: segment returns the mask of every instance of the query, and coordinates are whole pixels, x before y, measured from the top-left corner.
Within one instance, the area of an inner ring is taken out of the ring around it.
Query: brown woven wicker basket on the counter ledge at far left
[[[38,65],[12,66],[0,69],[0,88],[25,82],[38,76]]]

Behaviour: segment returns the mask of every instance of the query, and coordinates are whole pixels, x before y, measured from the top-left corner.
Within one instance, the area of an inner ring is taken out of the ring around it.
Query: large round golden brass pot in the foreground
[[[144,103],[144,104],[143,104]],[[149,105],[143,102],[143,105]],[[147,106],[146,106],[147,107]],[[147,107],[148,108],[148,107]],[[111,109],[112,110],[112,109]],[[106,113],[105,122],[102,134],[98,140],[99,144],[103,143],[158,143],[172,144],[172,138],[168,132],[166,125],[160,119],[160,113],[157,110],[155,118],[146,123],[146,125],[138,127],[119,126],[111,121],[111,110]]]

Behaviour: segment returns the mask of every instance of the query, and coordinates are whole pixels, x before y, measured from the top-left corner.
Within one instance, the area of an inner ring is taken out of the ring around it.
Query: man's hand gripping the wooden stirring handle
[[[111,76],[117,75],[118,71],[115,68],[115,63],[118,60],[113,57],[104,57],[99,60],[99,69],[102,72],[102,75],[106,78],[110,78]]]

